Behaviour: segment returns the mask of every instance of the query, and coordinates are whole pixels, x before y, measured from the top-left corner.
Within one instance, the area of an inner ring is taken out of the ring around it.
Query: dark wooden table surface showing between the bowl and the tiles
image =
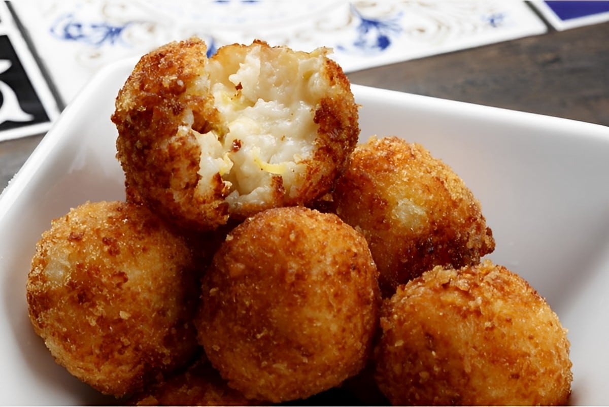
[[[609,126],[609,23],[348,75],[352,83]],[[0,191],[43,136],[0,142]]]

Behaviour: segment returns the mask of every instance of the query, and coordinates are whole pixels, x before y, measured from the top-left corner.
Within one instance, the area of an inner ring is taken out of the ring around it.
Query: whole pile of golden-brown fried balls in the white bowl
[[[35,331],[72,375],[141,405],[337,388],[365,403],[566,403],[557,316],[482,260],[495,241],[448,166],[396,137],[357,144],[326,52],[255,41],[208,58],[191,38],[144,55],[112,116],[127,200],[44,232]]]

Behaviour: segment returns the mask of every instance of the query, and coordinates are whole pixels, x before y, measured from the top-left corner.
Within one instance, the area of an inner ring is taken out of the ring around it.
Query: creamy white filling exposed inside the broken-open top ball
[[[197,91],[213,95],[228,128],[226,134],[195,133],[202,150],[200,187],[219,173],[234,208],[268,202],[272,177],[281,175],[286,195],[295,196],[306,171],[303,160],[314,152],[313,119],[328,86],[320,75],[323,51],[304,54],[255,44],[230,58],[209,60],[208,80],[198,84]],[[192,118],[185,122],[188,127]]]

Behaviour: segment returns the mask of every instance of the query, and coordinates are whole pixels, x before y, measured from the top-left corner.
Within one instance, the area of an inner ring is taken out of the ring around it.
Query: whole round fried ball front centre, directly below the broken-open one
[[[365,239],[335,214],[262,211],[234,228],[203,277],[199,342],[246,397],[309,397],[369,359],[377,277]]]

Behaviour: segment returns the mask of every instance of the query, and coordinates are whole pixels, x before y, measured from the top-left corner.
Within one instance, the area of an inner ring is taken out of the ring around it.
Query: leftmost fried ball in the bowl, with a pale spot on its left
[[[37,243],[26,287],[33,328],[58,364],[98,391],[139,391],[197,349],[191,258],[147,208],[86,202]]]

